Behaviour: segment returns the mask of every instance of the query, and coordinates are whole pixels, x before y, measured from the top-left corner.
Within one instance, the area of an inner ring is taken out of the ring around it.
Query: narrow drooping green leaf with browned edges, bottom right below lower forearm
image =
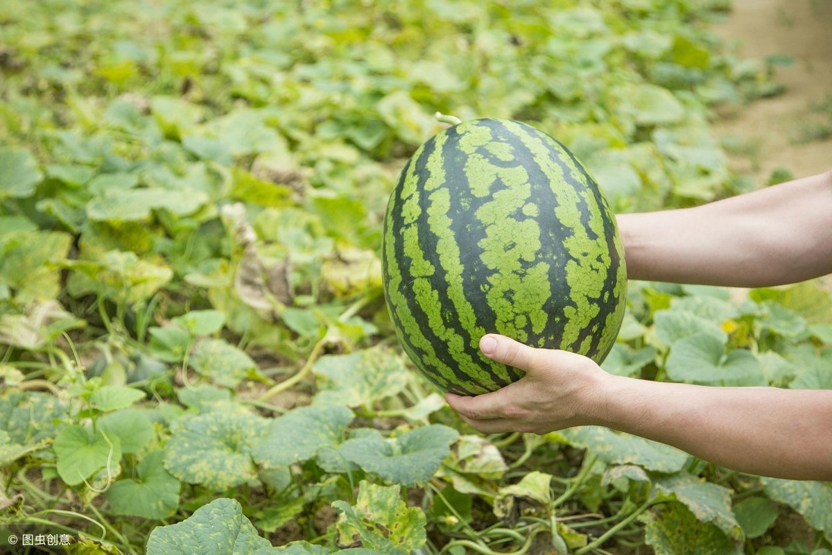
[[[678,473],[653,483],[658,498],[675,498],[702,523],[714,523],[731,539],[742,538],[742,529],[731,512],[731,490],[688,473]]]

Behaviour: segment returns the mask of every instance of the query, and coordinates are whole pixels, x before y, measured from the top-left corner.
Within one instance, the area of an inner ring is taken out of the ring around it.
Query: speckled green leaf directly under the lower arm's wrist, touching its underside
[[[607,464],[636,464],[656,472],[679,472],[690,455],[650,439],[601,426],[579,426],[561,432],[569,444],[587,448]]]

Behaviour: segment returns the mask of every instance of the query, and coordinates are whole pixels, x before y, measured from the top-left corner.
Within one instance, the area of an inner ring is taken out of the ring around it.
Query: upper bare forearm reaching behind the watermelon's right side
[[[617,219],[632,279],[758,287],[832,272],[832,172]]]

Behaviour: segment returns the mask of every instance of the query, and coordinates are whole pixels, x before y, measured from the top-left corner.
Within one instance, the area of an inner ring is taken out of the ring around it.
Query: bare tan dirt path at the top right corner
[[[730,17],[715,31],[739,42],[743,57],[794,59],[775,72],[785,93],[716,122],[719,136],[743,145],[744,154],[732,156],[733,169],[760,186],[777,168],[795,177],[832,168],[832,138],[797,142],[807,137],[810,121],[832,122],[832,114],[811,110],[818,102],[832,103],[832,0],[734,0]]]

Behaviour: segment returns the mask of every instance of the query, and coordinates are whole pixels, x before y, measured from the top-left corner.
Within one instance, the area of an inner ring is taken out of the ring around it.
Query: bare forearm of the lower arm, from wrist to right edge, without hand
[[[598,424],[741,472],[832,480],[832,391],[721,388],[613,376]]]

